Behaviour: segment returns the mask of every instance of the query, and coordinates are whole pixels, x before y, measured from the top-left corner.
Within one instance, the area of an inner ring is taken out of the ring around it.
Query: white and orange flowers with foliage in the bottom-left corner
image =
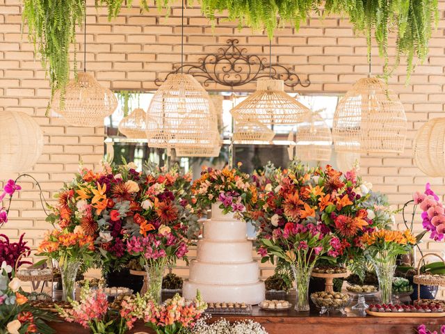
[[[0,267],[0,334],[54,333],[44,322],[54,317],[27,303],[20,280],[10,279],[13,274],[13,267],[3,261]]]

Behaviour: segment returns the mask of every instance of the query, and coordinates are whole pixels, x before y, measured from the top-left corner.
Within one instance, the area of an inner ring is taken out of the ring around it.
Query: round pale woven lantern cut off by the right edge
[[[426,122],[414,142],[414,164],[431,177],[445,176],[445,118]]]

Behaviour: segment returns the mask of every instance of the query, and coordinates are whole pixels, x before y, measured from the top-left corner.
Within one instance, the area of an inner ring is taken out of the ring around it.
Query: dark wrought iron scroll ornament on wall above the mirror
[[[298,85],[308,87],[311,84],[309,79],[302,81],[291,68],[268,64],[266,58],[247,54],[248,50],[245,47],[239,47],[238,42],[237,39],[227,40],[227,46],[220,47],[218,53],[208,54],[204,58],[200,58],[197,63],[181,65],[168,73],[165,79],[170,74],[181,73],[182,70],[184,74],[202,78],[204,87],[208,87],[214,82],[234,88],[270,76],[273,79],[283,80],[284,84],[291,88]],[[156,79],[154,83],[156,86],[161,86],[163,81]]]

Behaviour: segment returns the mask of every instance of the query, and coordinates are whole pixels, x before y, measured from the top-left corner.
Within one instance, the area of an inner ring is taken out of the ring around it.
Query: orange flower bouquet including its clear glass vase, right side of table
[[[408,253],[416,244],[410,230],[405,232],[374,230],[361,237],[365,254],[373,264],[378,276],[380,299],[387,304],[392,301],[392,282],[398,255]]]

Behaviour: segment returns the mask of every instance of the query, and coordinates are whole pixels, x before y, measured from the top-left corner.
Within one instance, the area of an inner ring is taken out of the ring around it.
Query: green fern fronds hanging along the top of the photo
[[[23,19],[29,26],[29,38],[42,58],[51,82],[51,92],[63,90],[70,76],[70,46],[75,41],[76,26],[81,26],[86,0],[24,0]],[[141,10],[148,10],[148,0],[140,0]],[[158,8],[168,8],[175,0],[155,0]],[[227,10],[228,18],[240,26],[266,29],[270,38],[277,26],[291,23],[299,29],[312,13],[349,17],[357,33],[364,33],[371,49],[373,31],[380,56],[385,59],[388,76],[407,57],[407,74],[414,59],[423,61],[428,54],[428,40],[439,20],[437,0],[198,0],[202,13],[213,22],[216,14]],[[120,13],[132,0],[95,0],[96,6],[108,8],[108,19]],[[396,61],[389,66],[389,34],[396,36]],[[74,50],[75,51],[75,50]],[[74,61],[74,72],[76,71]]]

